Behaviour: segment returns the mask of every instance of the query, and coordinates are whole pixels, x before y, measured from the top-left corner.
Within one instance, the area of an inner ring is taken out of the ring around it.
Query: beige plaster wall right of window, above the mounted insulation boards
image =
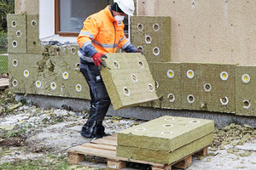
[[[171,16],[171,61],[256,65],[256,1],[137,0],[138,15]]]

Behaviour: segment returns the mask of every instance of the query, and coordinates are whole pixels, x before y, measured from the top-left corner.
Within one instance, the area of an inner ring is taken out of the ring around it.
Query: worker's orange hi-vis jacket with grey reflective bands
[[[124,33],[125,25],[113,19],[110,6],[84,20],[84,27],[77,39],[84,50],[92,44],[98,53],[115,53],[117,48],[125,49],[129,42]],[[91,56],[90,56],[91,57]]]

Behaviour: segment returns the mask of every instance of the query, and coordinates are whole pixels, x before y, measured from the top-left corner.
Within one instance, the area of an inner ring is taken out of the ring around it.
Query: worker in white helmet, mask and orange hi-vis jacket
[[[117,48],[126,53],[142,53],[124,33],[125,15],[133,15],[133,0],[114,0],[96,14],[84,20],[83,29],[77,39],[79,43],[80,71],[90,87],[90,111],[87,122],[80,134],[85,139],[99,139],[106,136],[102,121],[107,114],[110,99],[102,82],[101,65],[106,66],[102,58],[105,54],[115,53]]]

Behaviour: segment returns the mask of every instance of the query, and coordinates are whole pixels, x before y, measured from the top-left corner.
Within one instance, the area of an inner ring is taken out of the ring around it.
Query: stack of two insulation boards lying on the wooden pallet
[[[171,164],[212,143],[214,122],[162,116],[119,131],[116,156]]]

